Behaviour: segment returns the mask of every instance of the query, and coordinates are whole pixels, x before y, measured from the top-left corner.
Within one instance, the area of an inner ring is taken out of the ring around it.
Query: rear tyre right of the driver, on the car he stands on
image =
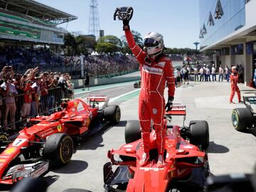
[[[191,121],[190,127],[190,143],[201,145],[201,149],[206,150],[209,146],[209,126],[206,121]]]

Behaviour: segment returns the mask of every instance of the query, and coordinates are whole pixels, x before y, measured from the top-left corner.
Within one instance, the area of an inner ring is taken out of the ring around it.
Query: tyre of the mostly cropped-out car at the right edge
[[[248,108],[237,108],[232,112],[233,127],[239,132],[245,131],[247,127],[252,127],[253,116]]]

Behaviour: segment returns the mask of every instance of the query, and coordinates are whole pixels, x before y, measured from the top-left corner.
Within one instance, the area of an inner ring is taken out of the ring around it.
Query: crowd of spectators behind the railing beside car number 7
[[[30,68],[23,75],[5,66],[0,73],[0,117],[4,131],[23,128],[27,117],[49,114],[61,98],[73,97],[70,75]]]

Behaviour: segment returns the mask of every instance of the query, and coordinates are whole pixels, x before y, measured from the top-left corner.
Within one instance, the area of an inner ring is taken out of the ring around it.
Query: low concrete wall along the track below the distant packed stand
[[[134,76],[134,77],[120,77],[120,78],[92,78],[90,79],[90,86],[95,85],[107,85],[117,82],[129,82],[129,81],[137,81],[140,80],[140,76]],[[83,87],[85,85],[85,80],[72,80],[72,82],[75,85],[75,89]]]

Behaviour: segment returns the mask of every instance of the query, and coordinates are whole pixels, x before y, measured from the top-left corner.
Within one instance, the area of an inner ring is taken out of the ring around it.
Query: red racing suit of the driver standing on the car
[[[174,97],[175,80],[171,60],[166,55],[157,60],[149,60],[146,53],[134,41],[131,31],[125,30],[127,43],[139,61],[142,77],[142,89],[139,92],[139,122],[142,131],[142,149],[149,152],[151,119],[156,131],[156,146],[159,155],[164,154],[164,88],[169,88],[168,95]]]

